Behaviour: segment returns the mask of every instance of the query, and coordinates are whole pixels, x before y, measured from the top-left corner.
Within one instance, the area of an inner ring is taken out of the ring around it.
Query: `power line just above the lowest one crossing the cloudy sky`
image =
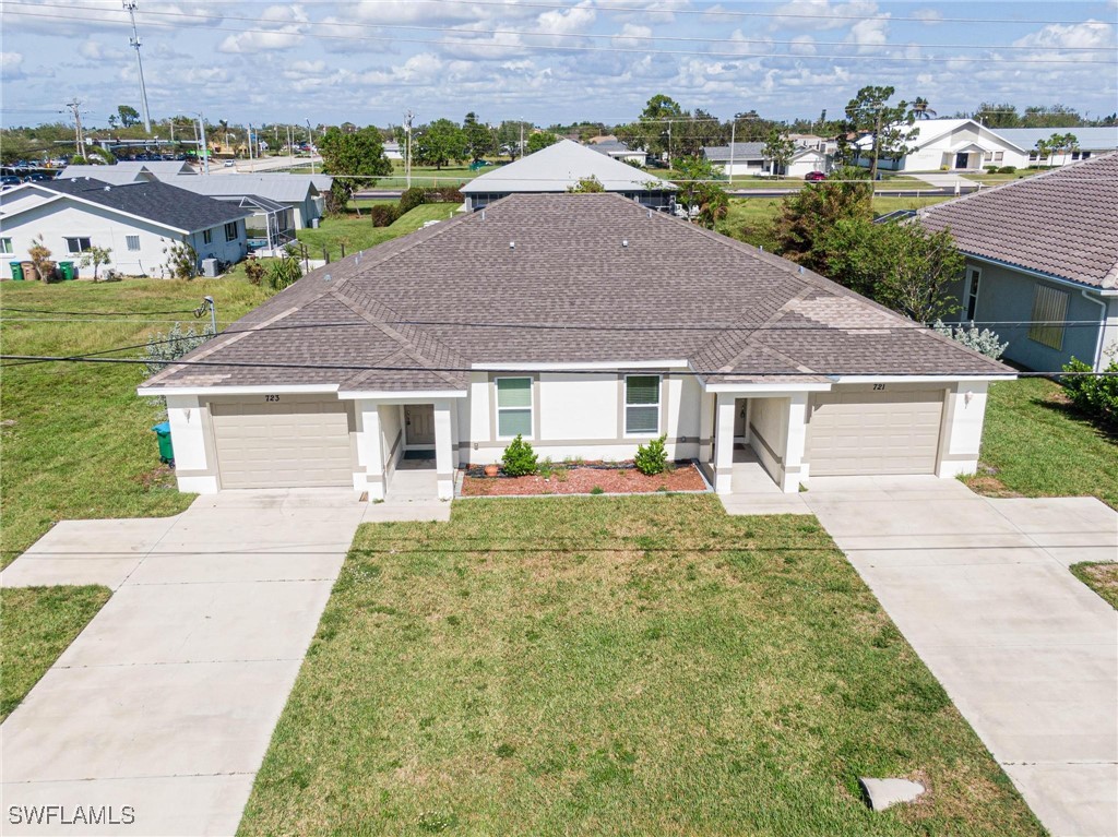
[[[132,0],[124,0],[125,9],[134,9],[135,3]],[[131,2],[131,6],[129,3]],[[74,11],[84,11],[89,7],[86,6],[73,6],[67,3],[29,3],[20,2],[20,0],[10,0],[9,6],[27,6],[37,9],[69,9]],[[144,15],[154,15],[168,18],[184,18],[188,20],[210,20],[211,18],[207,15],[192,15],[190,12],[181,11],[145,11]],[[237,20],[249,23],[259,22],[259,17],[241,17],[237,15],[225,15],[222,13],[221,20]],[[314,27],[314,26],[329,26],[335,27],[338,23],[328,22],[322,20],[301,20],[287,22],[291,26],[300,27]],[[598,34],[598,32],[542,32],[542,31],[530,31],[523,29],[462,29],[459,26],[425,26],[419,23],[377,23],[377,22],[366,22],[358,20],[347,20],[345,27],[357,27],[362,29],[405,29],[409,31],[437,31],[437,32],[452,32],[456,35],[515,35],[530,38],[598,38],[613,40],[615,38],[620,38],[623,40],[636,40],[636,41],[674,41],[674,42],[698,42],[698,44],[760,44],[765,46],[800,46],[800,41],[796,40],[773,40],[766,38],[701,38],[701,37],[689,37],[689,36],[672,36],[672,35],[648,35],[648,36],[623,36],[614,34]],[[847,41],[826,41],[816,40],[813,41],[813,46],[823,47],[850,47],[851,44]],[[510,45],[501,45],[509,47]],[[894,48],[908,48],[911,44],[880,44],[874,45],[880,47],[894,47]],[[945,49],[1020,49],[1020,50],[1032,50],[1032,51],[1057,51],[1057,53],[1074,53],[1074,51],[1087,51],[1087,53],[1102,53],[1109,51],[1107,47],[1060,47],[1060,46],[1017,46],[1017,45],[997,45],[991,46],[987,44],[917,44],[916,46],[921,48],[945,48]]]

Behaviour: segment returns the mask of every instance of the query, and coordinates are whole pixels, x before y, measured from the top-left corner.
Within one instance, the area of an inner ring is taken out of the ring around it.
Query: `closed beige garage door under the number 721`
[[[884,386],[815,396],[807,427],[812,476],[935,473],[944,390]]]

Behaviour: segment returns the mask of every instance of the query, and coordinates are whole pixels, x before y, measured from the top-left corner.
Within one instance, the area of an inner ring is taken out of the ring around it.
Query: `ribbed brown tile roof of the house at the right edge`
[[[920,210],[960,250],[1102,288],[1118,287],[1118,153]]]

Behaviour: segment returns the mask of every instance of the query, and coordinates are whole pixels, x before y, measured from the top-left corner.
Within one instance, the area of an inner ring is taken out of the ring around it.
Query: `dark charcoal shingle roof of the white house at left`
[[[51,180],[35,186],[154,221],[180,232],[210,229],[253,213],[252,210],[210,200],[158,181],[113,186],[92,178],[80,178]]]

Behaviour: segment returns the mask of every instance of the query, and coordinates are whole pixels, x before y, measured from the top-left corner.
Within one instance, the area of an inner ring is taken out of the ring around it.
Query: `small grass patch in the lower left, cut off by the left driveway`
[[[0,590],[0,721],[54,665],[101,606],[107,587],[22,587]]]

